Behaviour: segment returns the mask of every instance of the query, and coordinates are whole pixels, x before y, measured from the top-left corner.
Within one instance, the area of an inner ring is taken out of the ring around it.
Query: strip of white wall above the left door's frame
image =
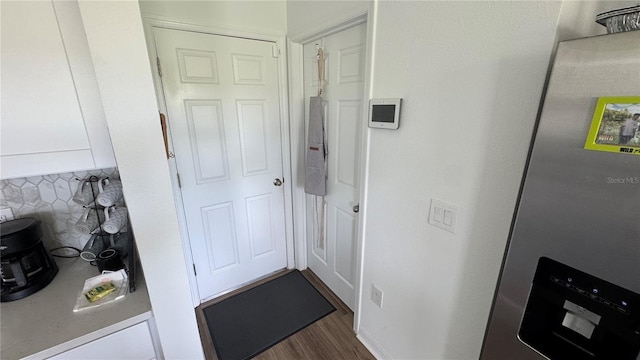
[[[285,1],[140,0],[143,16],[267,35],[286,32]]]

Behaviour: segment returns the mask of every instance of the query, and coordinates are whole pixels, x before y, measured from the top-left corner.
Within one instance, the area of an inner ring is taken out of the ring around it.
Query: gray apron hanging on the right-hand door
[[[327,151],[324,143],[324,107],[322,98],[309,99],[309,134],[304,172],[304,191],[307,194],[327,194]]]

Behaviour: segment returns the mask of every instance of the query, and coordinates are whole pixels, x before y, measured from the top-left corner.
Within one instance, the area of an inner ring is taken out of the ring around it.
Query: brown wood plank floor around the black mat
[[[291,270],[282,271],[266,279],[201,304],[196,308],[200,339],[207,359],[218,360],[209,335],[202,309],[233,295],[249,290]],[[353,312],[324,285],[311,270],[302,274],[335,306],[336,311],[274,345],[254,359],[257,360],[375,360],[375,357],[356,338],[353,332]]]

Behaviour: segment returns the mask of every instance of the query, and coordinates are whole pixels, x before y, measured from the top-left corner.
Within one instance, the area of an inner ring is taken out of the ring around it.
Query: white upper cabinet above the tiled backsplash
[[[0,178],[115,166],[75,1],[2,1]]]

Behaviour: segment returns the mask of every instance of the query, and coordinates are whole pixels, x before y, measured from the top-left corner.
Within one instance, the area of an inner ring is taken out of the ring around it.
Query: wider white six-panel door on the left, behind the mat
[[[154,29],[200,299],[285,268],[273,43]]]

